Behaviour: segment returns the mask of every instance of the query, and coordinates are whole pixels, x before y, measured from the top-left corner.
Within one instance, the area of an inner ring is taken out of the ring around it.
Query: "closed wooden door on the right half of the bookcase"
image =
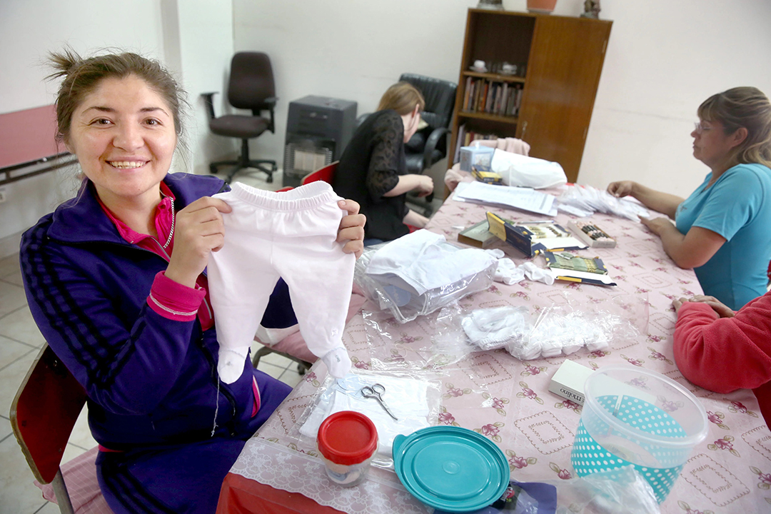
[[[575,182],[612,22],[537,18],[517,137]]]

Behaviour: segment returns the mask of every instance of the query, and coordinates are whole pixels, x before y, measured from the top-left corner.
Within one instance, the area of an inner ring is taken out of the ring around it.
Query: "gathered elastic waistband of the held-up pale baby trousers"
[[[247,186],[244,183],[234,183],[231,191],[244,202],[251,203],[255,207],[262,207],[268,210],[306,210],[315,209],[325,203],[332,203],[342,200],[335,194],[326,182],[318,180],[305,184],[305,186],[295,187],[293,190],[274,191],[260,190],[255,187]]]

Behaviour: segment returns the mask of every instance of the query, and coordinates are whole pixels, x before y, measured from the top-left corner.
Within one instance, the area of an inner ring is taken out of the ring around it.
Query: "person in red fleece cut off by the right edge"
[[[736,312],[711,296],[672,304],[675,361],[685,378],[719,393],[752,389],[771,426],[771,292]]]

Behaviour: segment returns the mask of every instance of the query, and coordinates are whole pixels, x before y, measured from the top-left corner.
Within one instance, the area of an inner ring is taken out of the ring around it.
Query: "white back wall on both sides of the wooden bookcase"
[[[236,50],[271,55],[278,127],[253,143],[281,160],[288,102],[307,94],[375,108],[402,72],[456,81],[475,0],[233,0]],[[555,14],[577,16],[581,0],[558,0]],[[503,0],[525,11],[525,0]],[[689,194],[705,166],[689,136],[704,99],[732,86],[771,94],[768,0],[604,0],[614,21],[594,104],[579,182],[604,187],[635,179]]]

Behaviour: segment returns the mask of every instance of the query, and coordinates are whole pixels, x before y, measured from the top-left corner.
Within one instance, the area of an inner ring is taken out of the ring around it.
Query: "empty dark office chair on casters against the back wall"
[[[238,160],[224,160],[211,163],[211,173],[217,173],[218,166],[234,166],[227,174],[226,183],[233,176],[246,168],[256,168],[268,173],[268,182],[273,182],[273,172],[277,170],[274,160],[249,159],[249,139],[260,136],[265,130],[275,132],[274,107],[276,105],[276,90],[273,82],[271,59],[262,52],[238,52],[231,61],[231,79],[227,85],[227,100],[237,109],[251,109],[252,116],[228,114],[217,118],[214,116],[215,92],[205,92],[204,97],[209,111],[209,128],[218,136],[237,137],[241,139],[241,156]],[[271,118],[261,116],[262,111],[269,111]],[[269,165],[269,166],[265,166]]]

